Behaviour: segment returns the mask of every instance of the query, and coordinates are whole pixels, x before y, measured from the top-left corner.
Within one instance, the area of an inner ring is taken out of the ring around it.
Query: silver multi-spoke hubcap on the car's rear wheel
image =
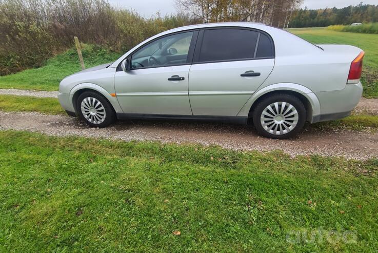
[[[287,102],[275,102],[265,107],[260,122],[265,131],[282,135],[298,124],[299,115],[295,107]]]

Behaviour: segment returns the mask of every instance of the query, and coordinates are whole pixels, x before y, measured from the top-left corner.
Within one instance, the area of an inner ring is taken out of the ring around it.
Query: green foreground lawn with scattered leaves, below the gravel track
[[[0,131],[0,251],[374,251],[377,167]]]

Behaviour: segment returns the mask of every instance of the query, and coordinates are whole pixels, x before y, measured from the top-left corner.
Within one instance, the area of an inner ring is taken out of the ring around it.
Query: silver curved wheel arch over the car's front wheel
[[[75,106],[75,101],[77,100],[78,96],[82,94],[85,91],[94,91],[97,92],[105,97],[105,99],[112,105],[113,110],[118,113],[122,112],[122,109],[120,107],[120,104],[118,103],[118,100],[116,97],[113,97],[110,95],[108,91],[106,91],[104,88],[101,86],[98,86],[96,84],[91,84],[91,83],[83,83],[83,84],[78,84],[74,86],[71,91],[70,91],[70,101],[72,103],[73,108],[76,111],[76,106]]]

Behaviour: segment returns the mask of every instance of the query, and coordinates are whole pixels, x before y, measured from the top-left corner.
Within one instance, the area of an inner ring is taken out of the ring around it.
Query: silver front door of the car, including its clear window
[[[131,69],[117,71],[114,76],[124,113],[192,114],[188,79],[194,34],[164,36],[131,55]]]

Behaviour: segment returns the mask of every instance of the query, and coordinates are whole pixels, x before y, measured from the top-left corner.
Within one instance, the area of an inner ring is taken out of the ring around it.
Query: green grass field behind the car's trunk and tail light
[[[339,32],[326,28],[296,28],[289,31],[314,44],[347,44],[363,49],[366,52],[363,96],[378,98],[378,34]]]

